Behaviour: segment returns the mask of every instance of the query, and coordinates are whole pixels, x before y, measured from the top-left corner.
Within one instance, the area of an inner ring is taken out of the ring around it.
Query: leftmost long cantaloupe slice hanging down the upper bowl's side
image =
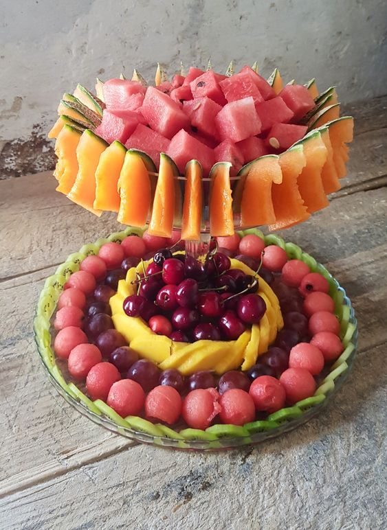
[[[55,142],[55,154],[58,157],[54,176],[58,181],[57,192],[68,194],[78,173],[76,148],[82,133],[69,125],[65,125]]]

